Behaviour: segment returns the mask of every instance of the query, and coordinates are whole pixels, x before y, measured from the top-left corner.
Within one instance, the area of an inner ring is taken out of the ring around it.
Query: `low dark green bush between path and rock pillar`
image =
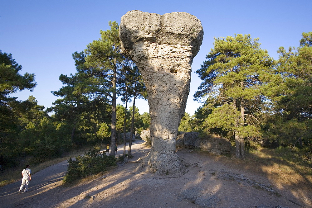
[[[106,171],[107,167],[116,165],[115,156],[106,156],[101,153],[99,148],[95,148],[86,153],[84,156],[76,157],[76,160],[68,160],[68,169],[64,177],[64,183],[71,183],[76,180],[95,175]]]

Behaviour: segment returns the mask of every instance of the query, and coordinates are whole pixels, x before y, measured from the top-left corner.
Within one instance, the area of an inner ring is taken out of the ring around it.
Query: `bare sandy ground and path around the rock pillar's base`
[[[131,161],[148,154],[142,142],[133,142]],[[122,145],[118,149],[122,154]],[[63,161],[34,173],[26,193],[17,193],[21,181],[1,187],[0,207],[312,207],[309,182],[283,183],[261,168],[186,148],[177,154],[190,164],[181,177],[138,174],[138,163],[125,163],[72,186],[62,185]]]

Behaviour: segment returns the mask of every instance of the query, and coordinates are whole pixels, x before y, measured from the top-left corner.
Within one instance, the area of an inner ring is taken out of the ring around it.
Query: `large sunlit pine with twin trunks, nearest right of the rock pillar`
[[[260,134],[258,117],[265,90],[278,79],[274,60],[258,40],[242,34],[215,38],[214,49],[196,71],[203,82],[194,97],[212,101],[206,103],[212,112],[205,125],[232,132],[240,159],[245,158],[244,138]]]

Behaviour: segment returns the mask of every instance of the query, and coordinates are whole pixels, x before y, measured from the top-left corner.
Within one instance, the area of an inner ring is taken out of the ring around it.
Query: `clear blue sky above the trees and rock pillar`
[[[0,50],[11,53],[23,66],[21,74],[35,73],[37,87],[13,94],[18,100],[36,97],[39,105],[52,106],[51,91],[62,87],[60,74],[75,73],[71,54],[100,38],[130,10],[164,14],[188,12],[204,29],[204,39],[193,60],[192,81],[186,111],[193,115],[200,106],[193,94],[201,83],[194,73],[213,48],[213,37],[251,34],[274,59],[280,46],[299,46],[302,32],[312,31],[310,0],[0,0]],[[122,104],[119,101],[120,104]],[[136,101],[139,112],[149,112],[147,101]]]

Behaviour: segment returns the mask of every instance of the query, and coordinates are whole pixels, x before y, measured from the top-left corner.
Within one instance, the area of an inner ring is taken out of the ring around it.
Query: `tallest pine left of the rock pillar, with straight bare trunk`
[[[100,31],[101,38],[94,40],[87,45],[85,53],[85,65],[89,71],[86,73],[92,76],[98,89],[96,96],[104,96],[112,104],[111,120],[111,146],[116,144],[116,93],[117,93],[117,73],[125,66],[129,65],[127,57],[120,53],[119,25],[109,22],[110,30]],[[115,155],[115,151],[110,152]]]

